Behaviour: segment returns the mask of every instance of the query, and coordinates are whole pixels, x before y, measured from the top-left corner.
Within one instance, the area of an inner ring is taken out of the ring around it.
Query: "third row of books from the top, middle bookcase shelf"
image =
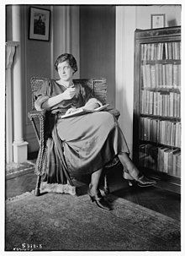
[[[181,117],[181,95],[176,92],[141,90],[141,113],[162,117]]]

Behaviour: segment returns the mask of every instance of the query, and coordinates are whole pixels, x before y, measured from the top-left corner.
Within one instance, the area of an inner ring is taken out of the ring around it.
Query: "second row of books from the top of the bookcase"
[[[155,63],[141,65],[141,85],[144,88],[179,88],[181,64]]]

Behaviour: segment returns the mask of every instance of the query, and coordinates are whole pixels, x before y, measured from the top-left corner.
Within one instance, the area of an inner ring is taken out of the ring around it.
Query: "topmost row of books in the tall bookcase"
[[[141,44],[141,60],[179,60],[181,59],[181,42],[169,41]]]

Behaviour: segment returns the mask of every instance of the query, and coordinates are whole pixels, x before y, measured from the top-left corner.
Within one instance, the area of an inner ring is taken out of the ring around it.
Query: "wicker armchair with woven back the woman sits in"
[[[30,80],[31,83],[31,90],[32,90],[32,111],[28,113],[28,117],[34,127],[34,132],[36,134],[37,140],[40,144],[40,150],[37,157],[36,165],[35,165],[35,173],[38,175],[37,182],[36,182],[36,188],[35,188],[35,195],[40,195],[40,184],[41,184],[41,177],[45,173],[45,162],[44,162],[44,155],[45,155],[45,149],[46,149],[46,130],[45,130],[45,116],[46,111],[36,111],[34,108],[34,101],[35,101],[35,93],[37,90],[40,89],[40,87],[44,84],[45,80],[48,80],[46,78],[38,78],[33,77]],[[99,101],[101,101],[103,104],[106,104],[107,102],[107,84],[106,79],[75,79],[73,80],[74,83],[82,84],[82,86],[88,86],[91,88],[93,95],[98,98]],[[109,109],[108,112],[111,112],[117,119],[119,118],[119,111],[115,109]],[[39,126],[38,128],[37,123],[35,122],[35,118],[39,119]],[[113,167],[114,165],[118,164],[119,160],[117,157],[115,157],[114,161],[109,163],[106,168]],[[105,172],[106,173],[106,172]],[[75,188],[73,186],[73,182],[71,180],[71,177],[66,177],[67,182],[71,188]],[[104,191],[108,192],[108,182],[107,182],[107,175],[104,175]],[[69,189],[68,189],[69,191]],[[65,192],[64,192],[65,193]],[[71,194],[75,194],[74,189],[72,189]]]

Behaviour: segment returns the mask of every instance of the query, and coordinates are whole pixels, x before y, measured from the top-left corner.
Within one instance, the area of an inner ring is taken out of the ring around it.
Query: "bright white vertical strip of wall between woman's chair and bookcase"
[[[116,99],[119,124],[132,152],[135,7],[116,8]]]

